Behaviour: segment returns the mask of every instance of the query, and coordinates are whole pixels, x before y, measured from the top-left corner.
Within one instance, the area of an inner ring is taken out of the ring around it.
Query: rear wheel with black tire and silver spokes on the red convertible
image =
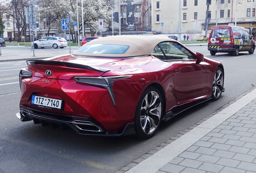
[[[134,116],[137,137],[142,139],[153,137],[160,126],[162,115],[162,96],[157,88],[148,87],[140,97]]]

